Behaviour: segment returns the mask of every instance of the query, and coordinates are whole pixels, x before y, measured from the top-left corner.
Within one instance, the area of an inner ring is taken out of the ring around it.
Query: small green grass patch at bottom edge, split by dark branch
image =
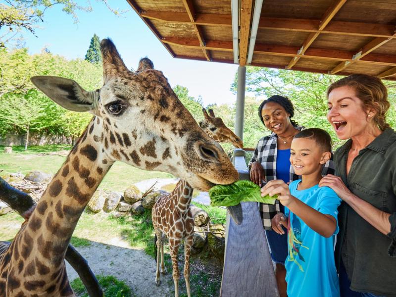
[[[135,296],[134,294],[132,295],[131,289],[123,281],[119,281],[113,276],[97,275],[96,277],[105,297]],[[70,286],[73,288],[73,291],[76,293],[77,297],[89,297],[87,290],[85,289],[80,278],[72,281]]]

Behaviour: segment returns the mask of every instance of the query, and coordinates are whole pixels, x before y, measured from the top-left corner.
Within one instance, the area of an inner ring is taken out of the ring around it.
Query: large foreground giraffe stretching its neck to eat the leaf
[[[195,123],[162,72],[143,58],[128,70],[114,44],[100,43],[103,86],[84,90],[53,76],[33,84],[66,109],[93,114],[11,245],[0,248],[0,297],[70,297],[64,256],[76,224],[112,164],[119,160],[169,172],[208,190],[238,173]]]

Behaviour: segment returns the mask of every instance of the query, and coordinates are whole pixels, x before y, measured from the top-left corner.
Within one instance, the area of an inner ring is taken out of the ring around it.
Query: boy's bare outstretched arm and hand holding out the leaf
[[[296,214],[305,224],[321,236],[330,237],[337,228],[336,219],[323,214],[290,194],[289,186],[282,180],[269,181],[262,189],[261,196],[278,194],[279,201]]]

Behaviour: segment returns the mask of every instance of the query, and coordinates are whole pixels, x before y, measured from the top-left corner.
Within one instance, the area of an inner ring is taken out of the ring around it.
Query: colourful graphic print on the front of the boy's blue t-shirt
[[[290,223],[290,220],[293,220],[292,224]],[[305,262],[304,257],[300,253],[300,248],[304,247],[302,245],[301,241],[301,223],[300,220],[297,218],[297,216],[291,214],[290,215],[290,220],[289,220],[289,258],[288,261],[295,262],[298,268],[304,272],[304,269],[302,268],[301,264],[298,263],[297,261],[297,256],[298,259],[301,260],[302,262]],[[290,224],[293,226],[291,228]],[[304,247],[306,249],[309,249],[309,247]]]

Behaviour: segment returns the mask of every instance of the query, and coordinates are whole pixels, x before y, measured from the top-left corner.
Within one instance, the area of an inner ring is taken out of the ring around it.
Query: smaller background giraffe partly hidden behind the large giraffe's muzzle
[[[216,142],[232,143],[237,148],[243,148],[242,140],[224,125],[223,120],[215,117],[212,109],[202,108],[205,120],[199,122],[199,126],[208,136]],[[175,297],[179,296],[179,266],[177,253],[182,241],[184,241],[184,280],[186,282],[187,296],[190,297],[190,253],[194,238],[194,218],[190,210],[190,203],[194,189],[183,179],[179,180],[175,189],[162,195],[151,209],[151,219],[155,232],[154,248],[156,253],[157,269],[155,272],[155,284],[160,284],[159,266],[161,273],[165,274],[164,245],[162,235],[169,240],[170,255],[172,259],[172,277],[175,285]],[[159,252],[157,252],[157,250]]]

